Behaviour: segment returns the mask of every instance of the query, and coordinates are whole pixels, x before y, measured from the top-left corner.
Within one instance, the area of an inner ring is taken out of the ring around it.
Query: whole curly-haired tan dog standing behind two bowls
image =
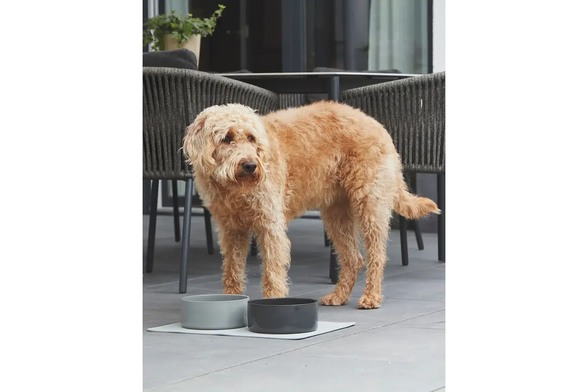
[[[242,294],[249,233],[258,240],[263,297],[288,295],[288,222],[318,209],[339,254],[339,283],[322,304],[349,300],[367,256],[359,307],[382,301],[392,210],[408,219],[440,213],[407,191],[396,148],[380,123],[358,109],[316,102],[266,116],[239,104],[203,110],[186,128],[183,151],[211,211],[223,254],[224,292]]]

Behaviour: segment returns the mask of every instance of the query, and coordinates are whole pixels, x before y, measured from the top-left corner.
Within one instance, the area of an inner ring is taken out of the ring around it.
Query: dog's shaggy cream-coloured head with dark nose
[[[248,106],[216,105],[186,128],[183,153],[196,172],[221,186],[255,185],[265,180],[268,136]]]

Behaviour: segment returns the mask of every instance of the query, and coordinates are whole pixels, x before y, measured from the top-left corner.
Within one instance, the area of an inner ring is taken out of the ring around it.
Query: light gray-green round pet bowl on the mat
[[[205,294],[182,298],[180,323],[187,329],[234,329],[247,326],[248,296]]]

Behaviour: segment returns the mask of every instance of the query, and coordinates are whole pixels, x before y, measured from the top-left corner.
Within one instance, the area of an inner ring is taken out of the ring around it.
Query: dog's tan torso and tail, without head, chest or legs
[[[329,206],[342,189],[361,187],[360,192],[389,200],[389,207],[409,218],[437,211],[431,200],[407,192],[392,138],[361,110],[320,101],[262,120],[288,164],[285,201],[293,216]],[[375,182],[380,186],[369,186]]]

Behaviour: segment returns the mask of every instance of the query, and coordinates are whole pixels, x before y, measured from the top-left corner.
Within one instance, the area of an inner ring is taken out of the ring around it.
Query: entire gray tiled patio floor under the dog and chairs
[[[322,321],[356,325],[303,340],[149,332],[179,321],[185,295],[222,293],[221,256],[206,253],[203,217],[192,217],[188,293],[178,293],[181,243],[173,219],[158,216],[153,273],[145,273],[148,216],[141,217],[142,391],[447,391],[447,264],[437,262],[437,235],[409,232],[410,263],[400,264],[399,232],[390,232],[380,309],[359,310],[365,270],[352,299],[319,306]],[[320,299],[333,289],[329,249],[318,219],[289,226],[290,294]],[[260,260],[248,257],[246,294],[261,297]]]

